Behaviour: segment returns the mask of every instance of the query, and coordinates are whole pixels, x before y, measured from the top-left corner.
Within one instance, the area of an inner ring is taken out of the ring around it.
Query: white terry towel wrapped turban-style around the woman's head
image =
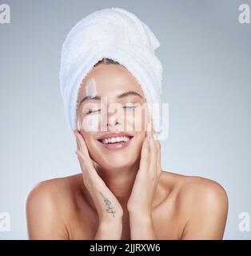
[[[137,79],[149,103],[153,127],[161,132],[160,46],[149,26],[122,8],[97,10],[78,22],[62,46],[60,86],[70,130],[76,129],[78,89],[102,58],[119,62]]]

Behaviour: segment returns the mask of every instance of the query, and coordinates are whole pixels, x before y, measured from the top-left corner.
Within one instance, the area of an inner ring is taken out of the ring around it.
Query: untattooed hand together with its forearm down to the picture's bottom
[[[153,197],[161,175],[161,145],[149,121],[141,148],[141,162],[127,202],[132,240],[156,240],[152,218]],[[153,138],[156,138],[156,140]]]

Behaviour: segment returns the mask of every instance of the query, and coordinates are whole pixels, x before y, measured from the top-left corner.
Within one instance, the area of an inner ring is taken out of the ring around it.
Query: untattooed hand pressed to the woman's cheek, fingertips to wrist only
[[[153,138],[155,137],[155,139]],[[127,202],[129,214],[151,218],[153,196],[161,174],[161,146],[149,120],[141,148],[141,162]]]

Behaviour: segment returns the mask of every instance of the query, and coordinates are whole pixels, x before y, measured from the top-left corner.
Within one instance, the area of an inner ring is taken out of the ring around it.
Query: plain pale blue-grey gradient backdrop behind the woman
[[[25,200],[38,182],[79,172],[59,90],[66,34],[94,10],[122,7],[161,42],[169,138],[162,168],[211,178],[229,196],[225,239],[250,239],[238,215],[251,215],[251,24],[238,22],[250,0],[0,1],[0,212],[11,217],[1,239],[26,239]]]

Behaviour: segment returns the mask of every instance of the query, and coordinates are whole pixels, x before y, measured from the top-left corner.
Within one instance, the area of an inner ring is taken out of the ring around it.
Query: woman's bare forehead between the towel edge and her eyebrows
[[[82,80],[78,100],[86,97],[86,82],[94,78],[98,95],[116,97],[125,91],[133,90],[144,97],[141,86],[136,78],[125,69],[124,66],[116,64],[99,64]]]

